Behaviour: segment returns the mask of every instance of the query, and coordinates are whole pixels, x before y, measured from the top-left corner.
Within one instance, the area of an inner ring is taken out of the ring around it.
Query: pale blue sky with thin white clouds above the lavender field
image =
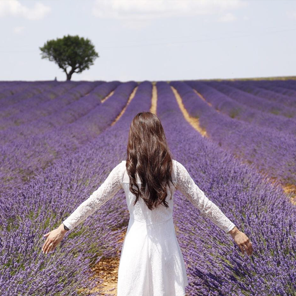
[[[48,40],[88,38],[99,57],[71,80],[296,76],[296,1],[0,0],[0,81],[66,80]]]

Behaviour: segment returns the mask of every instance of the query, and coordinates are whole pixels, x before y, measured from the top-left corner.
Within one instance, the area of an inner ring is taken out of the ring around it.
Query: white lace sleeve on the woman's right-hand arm
[[[176,188],[180,190],[200,211],[201,215],[208,217],[215,225],[224,230],[230,231],[233,224],[215,205],[205,193],[194,183],[186,168],[176,161]]]

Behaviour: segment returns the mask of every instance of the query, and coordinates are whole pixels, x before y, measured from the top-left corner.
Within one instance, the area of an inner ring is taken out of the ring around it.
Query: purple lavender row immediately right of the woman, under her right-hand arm
[[[198,209],[193,211],[185,197],[176,194],[174,220],[189,276],[187,294],[294,295],[296,208],[278,187],[219,145],[203,138],[184,119],[170,85],[158,82],[157,88],[157,113],[174,158],[250,238],[254,248],[252,257],[242,255],[230,236],[200,215]],[[203,111],[209,118],[214,116],[206,109]]]

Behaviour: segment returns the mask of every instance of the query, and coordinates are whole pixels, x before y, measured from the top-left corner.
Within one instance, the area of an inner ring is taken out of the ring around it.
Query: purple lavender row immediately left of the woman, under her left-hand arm
[[[131,84],[136,85],[126,85]],[[1,198],[0,237],[5,237],[0,257],[3,296],[79,295],[78,288],[91,289],[102,282],[90,279],[89,268],[103,257],[118,256],[122,247],[122,242],[117,243],[118,235],[126,229],[129,218],[123,192],[67,234],[47,256],[41,251],[43,234],[60,225],[126,158],[130,122],[138,112],[150,109],[151,97],[152,84],[142,82],[114,125],[80,145],[75,153],[38,170],[34,180]],[[97,118],[104,118],[106,111],[98,108]],[[96,124],[93,117],[88,120]]]

